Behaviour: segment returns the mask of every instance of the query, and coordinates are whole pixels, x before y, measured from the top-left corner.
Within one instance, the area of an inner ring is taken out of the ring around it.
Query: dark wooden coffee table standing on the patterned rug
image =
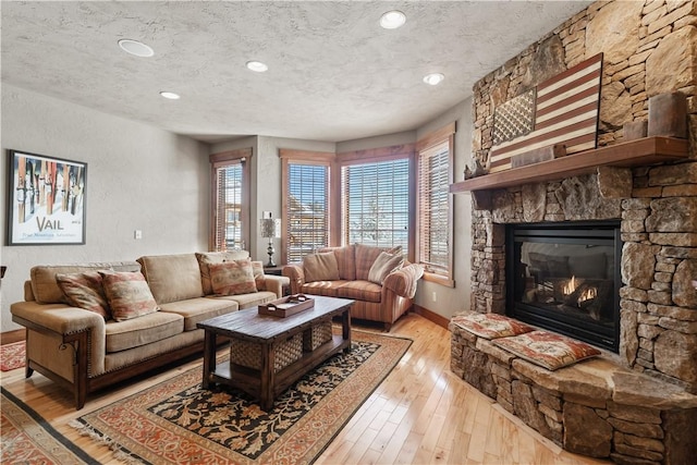
[[[232,386],[259,399],[261,408],[268,411],[273,400],[303,375],[333,354],[351,350],[351,306],[354,301],[321,296],[313,296],[313,308],[285,318],[259,315],[258,308],[254,307],[197,323],[205,331],[203,388],[215,383]],[[341,316],[342,334],[334,334],[313,347],[313,331],[338,316]],[[219,336],[229,339],[232,345],[249,347],[249,355],[259,358],[258,366],[239,364],[232,357],[230,362],[217,364]],[[299,355],[278,369],[276,359],[283,355],[279,351],[286,351],[289,344],[296,347],[298,341],[302,344]]]

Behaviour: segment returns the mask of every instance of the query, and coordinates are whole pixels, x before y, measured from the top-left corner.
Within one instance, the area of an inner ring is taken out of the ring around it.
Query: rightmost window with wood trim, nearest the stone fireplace
[[[452,280],[452,143],[454,124],[417,143],[417,259],[427,273]]]

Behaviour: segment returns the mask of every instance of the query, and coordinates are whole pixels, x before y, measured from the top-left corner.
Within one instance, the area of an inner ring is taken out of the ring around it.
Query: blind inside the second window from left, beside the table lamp
[[[329,167],[289,162],[288,262],[329,245]]]

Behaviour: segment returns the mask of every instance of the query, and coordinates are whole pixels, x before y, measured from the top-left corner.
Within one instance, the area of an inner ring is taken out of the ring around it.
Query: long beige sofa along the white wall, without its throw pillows
[[[73,391],[75,404],[82,408],[93,391],[201,352],[204,332],[196,328],[197,322],[282,295],[282,284],[288,280],[265,276],[261,262],[254,262],[257,292],[212,295],[210,264],[246,257],[245,250],[191,253],[144,256],[137,261],[32,268],[24,286],[25,301],[11,305],[13,321],[27,329],[26,377],[34,370],[41,372]],[[132,272],[119,276],[139,279],[138,284],[150,290],[156,310],[117,321],[69,304],[56,276],[96,270]]]

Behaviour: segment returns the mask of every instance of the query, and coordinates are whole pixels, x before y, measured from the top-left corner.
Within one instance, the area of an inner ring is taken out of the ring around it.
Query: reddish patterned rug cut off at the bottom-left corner
[[[2,388],[0,463],[98,464],[24,402]]]

